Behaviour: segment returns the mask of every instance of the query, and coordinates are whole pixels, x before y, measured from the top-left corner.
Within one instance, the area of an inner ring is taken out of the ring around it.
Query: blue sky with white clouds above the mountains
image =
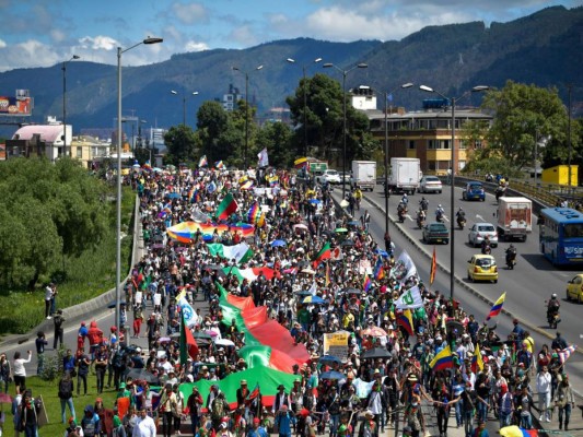
[[[114,64],[118,46],[131,47],[148,36],[164,43],[126,52],[124,64],[296,37],[398,40],[428,25],[489,25],[557,4],[574,8],[582,1],[0,0],[0,71],[50,67],[73,55]]]

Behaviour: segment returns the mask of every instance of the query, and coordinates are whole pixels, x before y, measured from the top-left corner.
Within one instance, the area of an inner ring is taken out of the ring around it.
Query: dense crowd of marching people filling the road
[[[480,323],[464,311],[463,303],[430,291],[429,279],[419,277],[388,234],[381,245],[375,241],[370,214],[360,214],[357,202],[351,210],[359,217],[338,211],[328,187],[305,186],[287,172],[255,177],[250,186],[248,173],[214,168],[145,168],[128,176],[126,182],[140,201],[145,255],[125,287],[120,326],[106,334],[95,322],[89,328],[82,323],[77,352],[67,351],[59,382],[63,423],[66,409],[70,411],[66,436],[154,436],[156,426],[171,436],[185,420],[199,437],[266,437],[273,429],[282,437],[377,437],[389,427],[420,436],[429,432],[428,417],[434,414],[440,436],[455,421],[466,436],[486,437],[489,420],[498,420],[500,427],[530,428],[535,414],[539,421],[551,420],[551,405],[558,406],[560,428],[568,429],[574,399],[559,356],[567,347],[559,333],[550,346],[536,350],[530,334],[514,320],[514,330],[501,338],[495,323]],[[236,209],[219,218],[226,193]],[[259,213],[250,217],[252,211]],[[249,221],[254,228],[246,234],[240,224]],[[183,222],[226,228],[199,227],[184,243],[167,232]],[[242,241],[253,255],[238,264],[208,248]],[[323,255],[325,247],[329,250]],[[234,267],[267,268],[270,273],[243,277],[230,274]],[[421,304],[397,308],[412,290]],[[305,347],[306,359],[291,369],[293,387],[253,393],[241,380],[236,402],[228,402],[221,380],[250,363],[238,355],[245,333],[224,319],[224,292],[265,306],[269,319]],[[304,303],[306,296],[322,302]],[[189,350],[186,363],[179,341],[185,300],[195,309],[189,323],[194,338],[211,339],[200,340],[195,353]],[[337,331],[347,331],[348,341],[342,356],[330,357],[324,336]],[[148,339],[147,350],[130,345],[137,336]],[[218,346],[217,339],[231,345]],[[444,351],[451,355],[442,366],[435,357]],[[5,361],[0,356],[0,370]],[[15,356],[14,370],[23,362]],[[91,370],[96,394],[110,386],[117,400],[104,406],[98,398],[77,416],[73,381],[77,394],[88,393]],[[8,377],[3,379],[8,390]],[[203,381],[213,381],[205,397]],[[185,395],[184,387],[191,392]],[[30,421],[26,395],[23,390],[15,411],[15,428],[24,433]]]

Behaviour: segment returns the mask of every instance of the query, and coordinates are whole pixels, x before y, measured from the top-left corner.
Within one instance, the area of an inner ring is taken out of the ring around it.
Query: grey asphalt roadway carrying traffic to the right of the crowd
[[[378,191],[378,189],[377,189]],[[364,210],[368,209],[371,213],[371,226],[370,232],[373,236],[373,238],[376,241],[382,243],[383,241],[383,235],[385,232],[385,218],[384,218],[384,198],[382,197],[381,192],[373,192],[368,193],[364,198],[364,201],[361,204],[360,211],[357,211],[354,213],[354,217],[359,218],[362,213],[364,213]],[[425,199],[429,200],[430,204],[430,213],[433,214],[434,209],[438,206],[439,203],[442,203],[442,205],[445,208],[445,211],[448,213],[448,201],[446,201],[446,197],[448,199],[448,190],[447,194],[423,194]],[[456,193],[459,193],[459,199],[462,197],[462,191],[456,191]],[[335,190],[334,198],[336,200],[340,200],[341,192],[340,190]],[[421,231],[417,228],[417,224],[415,221],[406,221],[404,224],[397,223],[397,204],[400,199],[400,196],[393,196],[389,199],[389,217],[392,221],[389,222],[389,233],[392,240],[395,243],[397,247],[397,256],[400,253],[403,249],[407,250],[409,256],[412,258],[417,270],[420,274],[420,276],[428,282],[429,281],[429,272],[431,269],[431,255],[433,250],[432,245],[425,245],[421,240]],[[413,208],[418,205],[418,202],[421,200],[420,194],[415,194],[412,197],[409,197],[409,204]],[[369,200],[373,200],[374,203],[370,202]],[[463,202],[462,200],[459,202]],[[495,211],[495,201],[493,198],[488,197],[486,202],[463,202],[462,203],[464,210],[466,211],[466,216],[468,217],[468,224],[474,223],[473,218],[470,217],[470,214],[475,216],[476,214],[485,216],[488,211],[490,211],[490,216],[493,211]],[[409,211],[411,211],[411,206],[409,208]],[[481,220],[479,220],[481,221]],[[448,225],[448,224],[447,224]],[[456,260],[455,260],[455,268],[456,268],[456,276],[458,281],[462,281],[463,284],[456,283],[455,287],[455,298],[462,303],[462,307],[464,310],[466,310],[467,314],[474,314],[476,316],[476,320],[483,321],[490,311],[490,304],[487,304],[483,302],[480,297],[476,296],[475,294],[470,293],[466,287],[471,287],[476,290],[477,292],[483,294],[486,297],[488,297],[491,300],[495,300],[502,291],[506,291],[506,303],[504,304],[504,308],[508,309],[513,317],[517,317],[523,326],[530,324],[535,327],[544,326],[545,324],[545,312],[540,310],[541,303],[545,300],[543,297],[543,294],[540,294],[540,297],[528,297],[527,293],[520,293],[515,292],[516,290],[521,291],[524,288],[524,285],[521,284],[521,281],[534,281],[535,283],[544,284],[544,287],[535,287],[538,293],[543,293],[543,290],[550,285],[548,285],[548,282],[556,281],[555,277],[547,274],[546,271],[539,272],[536,269],[528,269],[528,265],[532,263],[529,261],[525,261],[525,253],[526,253],[526,260],[532,260],[534,258],[534,255],[536,255],[535,251],[530,258],[528,257],[528,253],[530,250],[536,250],[537,245],[536,240],[538,237],[533,238],[534,235],[529,235],[526,243],[518,243],[515,244],[518,248],[518,264],[516,267],[516,270],[514,271],[506,271],[504,267],[502,267],[500,271],[500,280],[498,284],[475,284],[475,283],[468,283],[465,280],[466,276],[466,261],[469,259],[469,256],[471,253],[479,252],[479,248],[473,249],[467,246],[467,229],[469,227],[466,226],[465,231],[456,231]],[[401,232],[405,232],[407,235],[409,235],[413,240],[415,245],[410,243],[410,240],[403,235]],[[534,234],[534,233],[533,233]],[[538,234],[538,233],[537,233]],[[462,237],[464,236],[464,237]],[[534,249],[526,249],[528,251],[525,252],[525,247],[528,247],[530,244],[534,244]],[[497,261],[499,263],[504,263],[504,248],[508,247],[510,244],[508,243],[501,243],[499,248],[493,250],[493,255],[497,258]],[[522,253],[521,253],[522,252]],[[450,268],[450,246],[448,245],[438,245],[436,246],[436,257],[438,257],[438,263],[443,265],[444,268]],[[547,262],[545,259],[541,259],[543,263]],[[548,263],[550,265],[550,263]],[[528,270],[528,272],[524,272],[524,270]],[[569,275],[574,274],[573,272],[569,272]],[[550,280],[549,280],[550,277]],[[569,277],[569,276],[568,276]],[[510,285],[509,285],[510,284]],[[440,291],[441,293],[445,293],[448,295],[450,292],[450,275],[445,272],[439,270],[435,275],[435,282],[433,283],[432,290]],[[511,291],[514,291],[512,293]],[[546,293],[546,292],[545,292]],[[522,296],[522,297],[521,297]],[[513,302],[513,305],[509,305],[511,303],[510,299],[516,299]],[[574,305],[576,308],[576,304],[568,304],[568,305]],[[568,306],[564,303],[561,304],[561,308],[564,306]],[[520,312],[520,314],[518,314]],[[530,312],[530,314],[529,314]],[[498,326],[497,332],[502,339],[505,339],[506,335],[512,331],[513,324],[512,319],[513,317],[509,317],[505,315],[500,315],[498,318],[495,318],[495,323]],[[564,333],[567,336],[567,340],[569,342],[578,344],[578,341],[580,341],[579,332],[583,333],[583,323],[581,322],[572,322],[571,324],[569,322],[562,322],[560,324],[561,332]],[[564,328],[564,329],[563,329]],[[578,328],[581,331],[578,331]],[[527,329],[527,328],[526,328]],[[553,331],[550,330],[543,330],[548,331],[549,335],[555,335]],[[530,330],[534,340],[535,340],[535,351],[538,352],[543,344],[549,344],[551,340],[546,336],[541,335],[540,332]],[[570,332],[573,332],[570,334]],[[575,335],[576,334],[576,335]],[[573,335],[573,336],[571,336]],[[581,393],[583,393],[583,355],[575,354],[573,355],[569,362],[567,363],[567,370],[570,375],[571,382],[573,387]]]

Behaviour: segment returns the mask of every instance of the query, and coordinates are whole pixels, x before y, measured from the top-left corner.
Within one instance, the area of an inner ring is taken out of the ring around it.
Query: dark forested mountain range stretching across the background
[[[447,96],[458,96],[475,85],[502,87],[506,80],[513,80],[556,86],[567,103],[567,84],[573,84],[574,114],[581,114],[582,54],[583,7],[547,8],[489,26],[483,22],[428,26],[401,40],[385,43],[296,38],[241,50],[186,52],[160,63],[123,67],[124,116],[147,120],[151,127],[168,128],[183,121],[185,103],[187,123],[195,126],[196,110],[202,102],[222,99],[231,85],[244,95],[246,75],[249,102],[264,114],[271,107],[287,106],[285,97],[294,93],[304,70],[308,76],[326,73],[342,83],[339,70],[348,71],[360,62],[368,68],[347,72],[347,88],[369,85],[385,92],[413,82]],[[287,58],[296,62],[287,62]],[[316,58],[323,61],[316,63]],[[323,69],[327,62],[337,68]],[[256,70],[258,66],[263,69]],[[241,70],[233,70],[233,67]],[[62,118],[60,63],[0,73],[1,95],[12,95],[18,88],[30,90],[34,97],[33,116],[26,121],[42,123],[47,116]],[[199,94],[194,96],[193,92]],[[393,105],[418,109],[427,97],[427,93],[417,90],[397,92]],[[77,134],[89,128],[113,129],[116,116],[117,67],[83,60],[68,63],[67,122],[73,126],[73,132]],[[14,129],[8,130],[13,132]]]

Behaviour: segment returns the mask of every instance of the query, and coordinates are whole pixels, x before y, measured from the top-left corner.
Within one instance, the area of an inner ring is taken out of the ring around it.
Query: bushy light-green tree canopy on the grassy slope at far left
[[[106,186],[75,161],[9,160],[0,165],[0,284],[34,287],[66,256],[104,236]]]

